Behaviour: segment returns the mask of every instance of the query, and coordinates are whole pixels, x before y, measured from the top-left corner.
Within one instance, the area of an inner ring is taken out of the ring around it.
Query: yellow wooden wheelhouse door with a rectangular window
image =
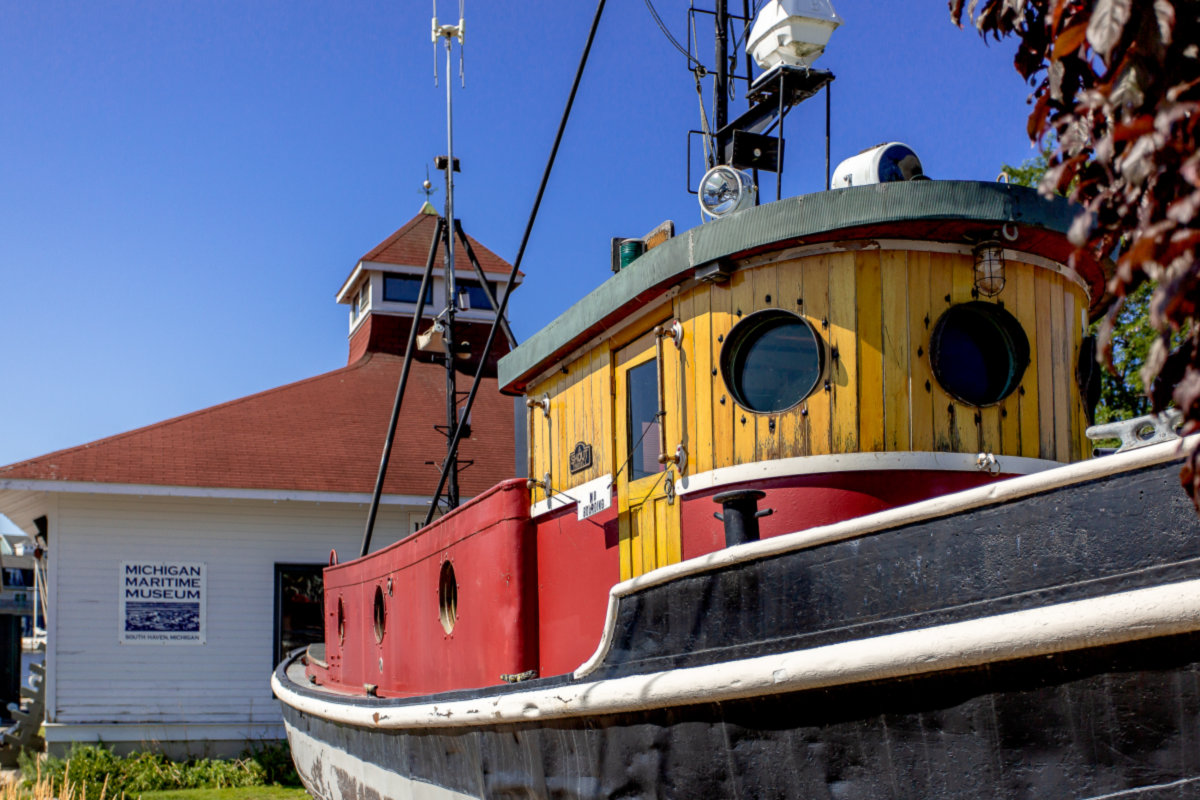
[[[674,348],[668,348],[671,353]],[[664,355],[653,331],[617,351],[617,504],[622,579],[680,559],[679,504],[674,465],[664,455],[668,420],[664,397]]]

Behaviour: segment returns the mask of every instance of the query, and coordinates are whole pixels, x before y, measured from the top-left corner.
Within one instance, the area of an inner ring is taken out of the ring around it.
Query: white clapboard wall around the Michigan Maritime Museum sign
[[[372,549],[414,511],[382,507]],[[277,723],[275,565],[356,555],[366,506],[64,494],[55,522],[49,721]],[[119,643],[119,567],[133,560],[206,565],[204,645]]]

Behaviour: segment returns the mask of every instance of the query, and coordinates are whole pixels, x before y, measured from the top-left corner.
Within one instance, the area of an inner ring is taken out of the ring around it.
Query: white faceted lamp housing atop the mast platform
[[[829,0],[770,0],[750,29],[746,53],[763,70],[780,64],[808,67],[824,53],[841,22]]]

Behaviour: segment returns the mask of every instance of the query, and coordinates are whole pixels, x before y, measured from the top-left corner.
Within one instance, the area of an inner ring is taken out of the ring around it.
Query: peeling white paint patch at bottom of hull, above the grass
[[[305,788],[317,800],[344,798],[335,769],[358,781],[360,788],[358,796],[360,798],[371,796],[362,790],[366,788],[378,793],[376,796],[390,800],[474,800],[475,798],[473,794],[462,794],[433,783],[407,778],[352,756],[329,742],[313,739],[287,723],[284,724],[288,729],[292,758],[295,759],[304,777]]]

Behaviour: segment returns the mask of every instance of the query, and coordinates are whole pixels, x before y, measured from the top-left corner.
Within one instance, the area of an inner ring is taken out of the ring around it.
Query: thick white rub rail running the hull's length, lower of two
[[[702,667],[413,705],[276,696],[360,728],[454,728],[625,714],[919,675],[1200,630],[1200,579]]]

